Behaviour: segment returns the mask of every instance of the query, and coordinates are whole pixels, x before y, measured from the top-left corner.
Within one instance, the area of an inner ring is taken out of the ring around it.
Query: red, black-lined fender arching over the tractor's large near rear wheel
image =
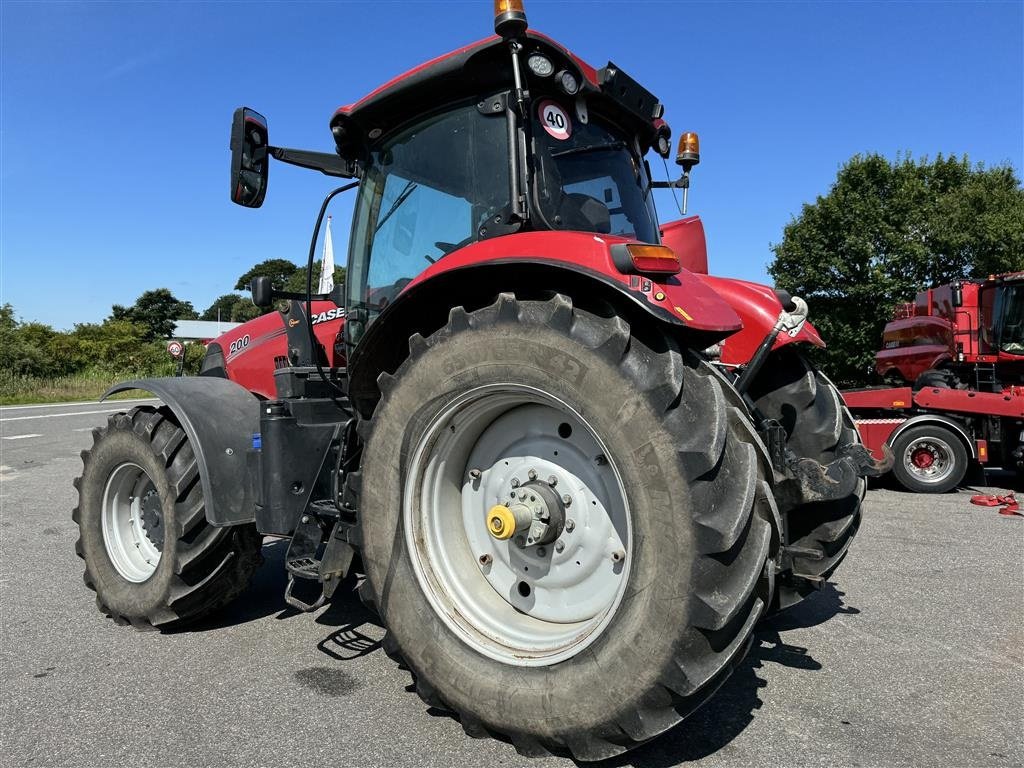
[[[503,291],[523,298],[559,292],[583,305],[611,304],[638,322],[687,336],[698,349],[739,330],[739,315],[692,272],[655,279],[618,271],[610,248],[627,242],[584,232],[523,232],[449,254],[406,286],[358,339],[349,358],[349,396],[367,415],[377,399],[377,377],[397,370],[411,336],[429,336],[447,322],[452,307],[472,311]]]

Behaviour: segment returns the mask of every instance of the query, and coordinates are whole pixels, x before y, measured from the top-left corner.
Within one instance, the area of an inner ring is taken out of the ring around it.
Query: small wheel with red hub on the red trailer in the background
[[[967,449],[953,432],[938,424],[910,427],[893,441],[893,475],[907,490],[944,494],[967,474]]]

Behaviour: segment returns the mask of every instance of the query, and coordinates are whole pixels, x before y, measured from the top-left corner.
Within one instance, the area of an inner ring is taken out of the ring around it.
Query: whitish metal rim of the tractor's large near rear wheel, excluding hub
[[[530,470],[570,497],[565,529],[543,548],[486,528],[490,507],[531,487]],[[412,454],[402,515],[420,587],[449,628],[490,658],[569,658],[597,639],[625,592],[633,537],[624,487],[614,458],[564,401],[518,384],[466,392]]]

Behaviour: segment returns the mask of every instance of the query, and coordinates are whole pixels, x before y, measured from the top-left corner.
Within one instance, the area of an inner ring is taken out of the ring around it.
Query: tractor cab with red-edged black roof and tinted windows
[[[610,62],[596,71],[537,33],[461,48],[338,110],[338,152],[361,178],[349,340],[474,243],[528,230],[658,243],[643,155],[668,136],[660,112]]]

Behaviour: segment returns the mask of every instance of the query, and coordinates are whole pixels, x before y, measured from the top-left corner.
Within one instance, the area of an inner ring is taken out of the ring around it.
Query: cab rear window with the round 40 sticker
[[[535,201],[552,229],[657,243],[650,181],[623,136],[553,100],[534,111]]]

